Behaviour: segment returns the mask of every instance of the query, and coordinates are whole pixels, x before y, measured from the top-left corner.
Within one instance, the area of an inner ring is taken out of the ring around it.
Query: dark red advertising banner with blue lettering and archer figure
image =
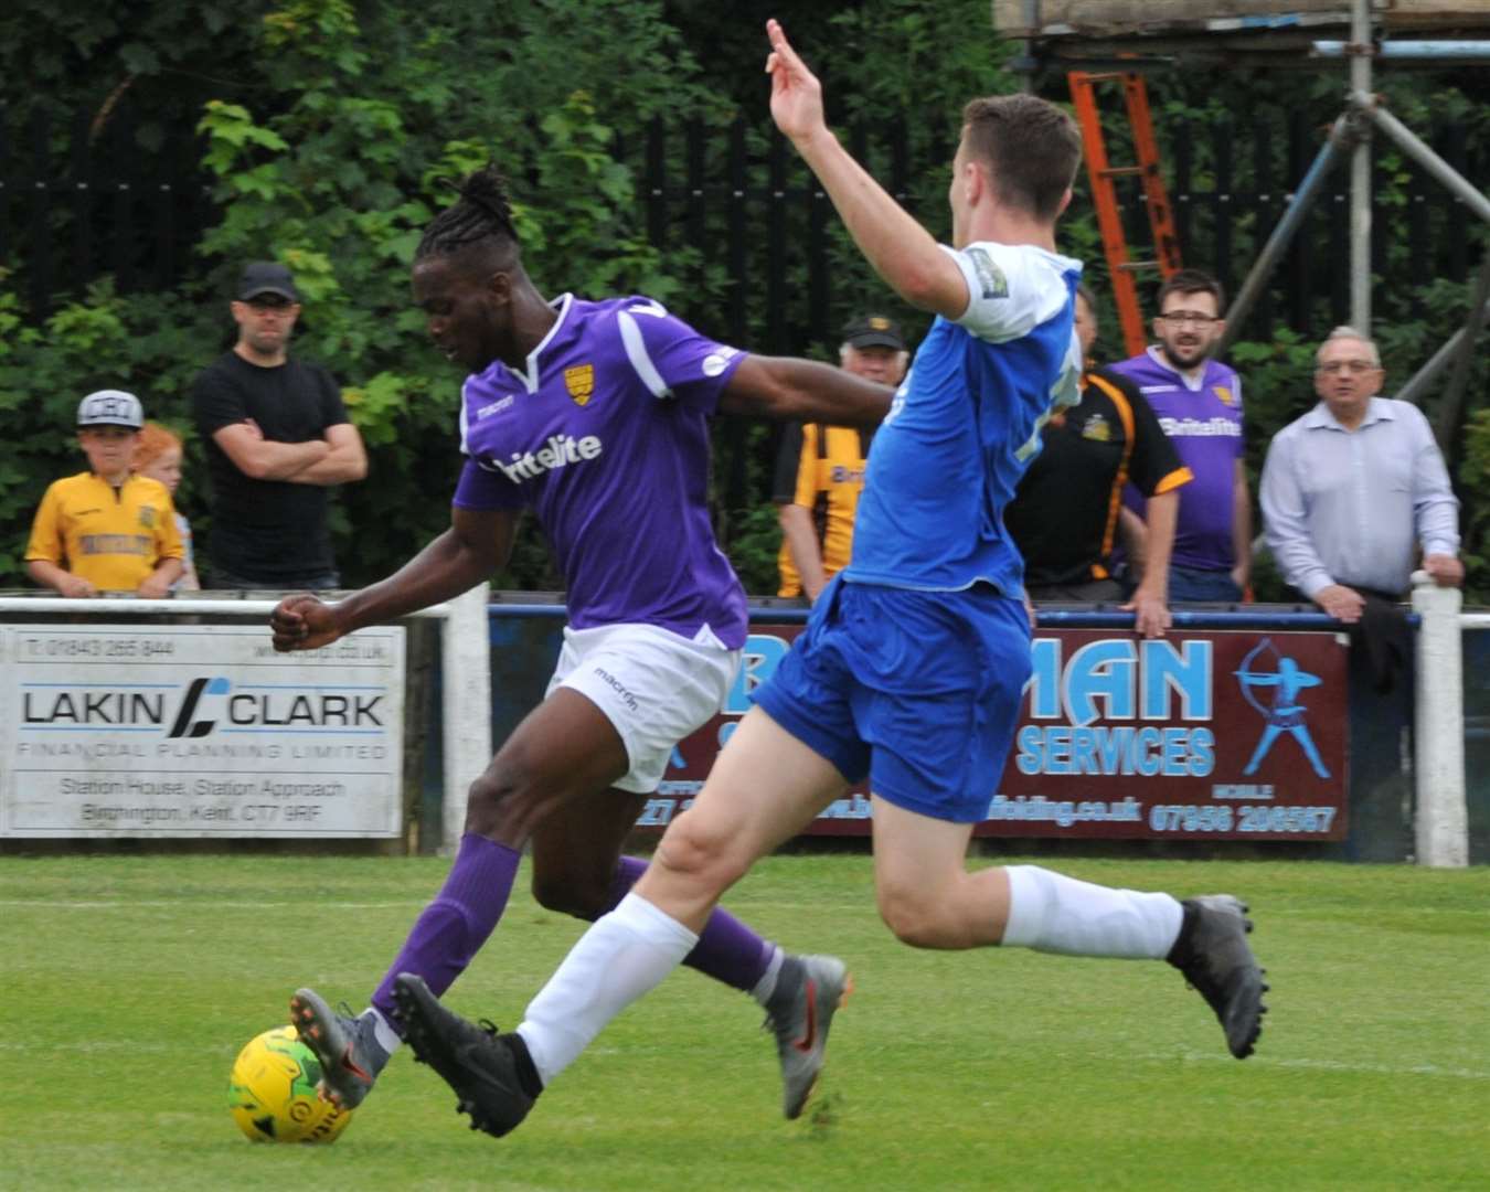
[[[639,821],[666,825],[800,626],[752,626],[721,715],[678,745]],[[1348,790],[1347,647],[1335,633],[1095,629],[1031,644],[1015,744],[989,778],[977,836],[1101,840],[1342,840]],[[814,834],[867,834],[860,787]]]

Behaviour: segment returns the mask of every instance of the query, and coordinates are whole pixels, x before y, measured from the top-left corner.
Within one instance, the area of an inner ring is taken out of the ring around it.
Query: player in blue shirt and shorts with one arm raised
[[[937,317],[875,437],[849,566],[645,875],[514,1033],[472,1027],[417,976],[396,979],[416,1055],[489,1134],[516,1126],[611,1018],[697,946],[755,858],[866,776],[879,912],[906,943],[1167,960],[1210,1003],[1232,1055],[1250,1055],[1261,1031],[1266,986],[1237,898],[1180,901],[1037,866],[966,864],[1030,673],[1022,562],[1001,511],[1052,407],[1077,399],[1080,265],[1055,252],[1077,130],[1031,95],[973,100],[952,162],[952,246],[939,246],[827,128],[821,86],[781,27],[767,33],[778,127],[876,271]]]

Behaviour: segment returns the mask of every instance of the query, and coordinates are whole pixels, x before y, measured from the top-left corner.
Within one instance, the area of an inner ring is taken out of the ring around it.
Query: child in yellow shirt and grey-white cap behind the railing
[[[25,569],[63,596],[127,592],[159,597],[182,574],[171,495],[131,471],[145,411],[118,389],[77,407],[88,471],[54,481],[36,511]]]

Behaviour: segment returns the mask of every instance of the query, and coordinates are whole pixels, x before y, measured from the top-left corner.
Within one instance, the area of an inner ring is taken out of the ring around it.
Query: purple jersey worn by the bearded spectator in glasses
[[[1193,475],[1180,489],[1171,562],[1198,571],[1231,571],[1237,563],[1231,514],[1241,459],[1241,378],[1219,361],[1205,361],[1199,381],[1191,384],[1158,347],[1110,368],[1138,386]],[[1132,484],[1123,490],[1123,504],[1143,513],[1143,498]]]

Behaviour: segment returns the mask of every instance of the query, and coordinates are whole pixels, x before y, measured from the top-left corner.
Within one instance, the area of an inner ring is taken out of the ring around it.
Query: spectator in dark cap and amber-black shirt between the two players
[[[900,328],[884,314],[866,314],[843,328],[839,364],[858,377],[900,384],[907,359]],[[805,596],[812,603],[822,586],[848,566],[873,434],[821,423],[787,428],[776,457],[779,596]]]

